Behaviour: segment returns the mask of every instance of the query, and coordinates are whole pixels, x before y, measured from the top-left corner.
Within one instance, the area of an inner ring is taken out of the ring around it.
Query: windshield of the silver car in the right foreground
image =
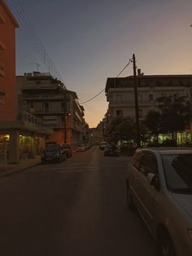
[[[168,189],[178,193],[192,193],[192,154],[163,155]]]

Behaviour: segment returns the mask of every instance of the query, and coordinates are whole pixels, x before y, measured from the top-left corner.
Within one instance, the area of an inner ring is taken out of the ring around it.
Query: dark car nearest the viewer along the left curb
[[[41,156],[41,163],[62,162],[67,158],[67,150],[60,144],[50,144]]]

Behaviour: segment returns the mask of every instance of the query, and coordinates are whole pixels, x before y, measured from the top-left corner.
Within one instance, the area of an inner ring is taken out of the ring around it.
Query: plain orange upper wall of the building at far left
[[[0,2],[0,91],[4,92],[0,104],[0,120],[14,121],[17,118],[17,96],[15,88],[15,24],[7,12],[4,1]]]

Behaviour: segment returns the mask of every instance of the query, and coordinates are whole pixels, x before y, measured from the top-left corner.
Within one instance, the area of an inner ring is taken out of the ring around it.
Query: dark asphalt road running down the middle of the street
[[[125,199],[128,157],[97,147],[0,179],[0,256],[156,256]]]

